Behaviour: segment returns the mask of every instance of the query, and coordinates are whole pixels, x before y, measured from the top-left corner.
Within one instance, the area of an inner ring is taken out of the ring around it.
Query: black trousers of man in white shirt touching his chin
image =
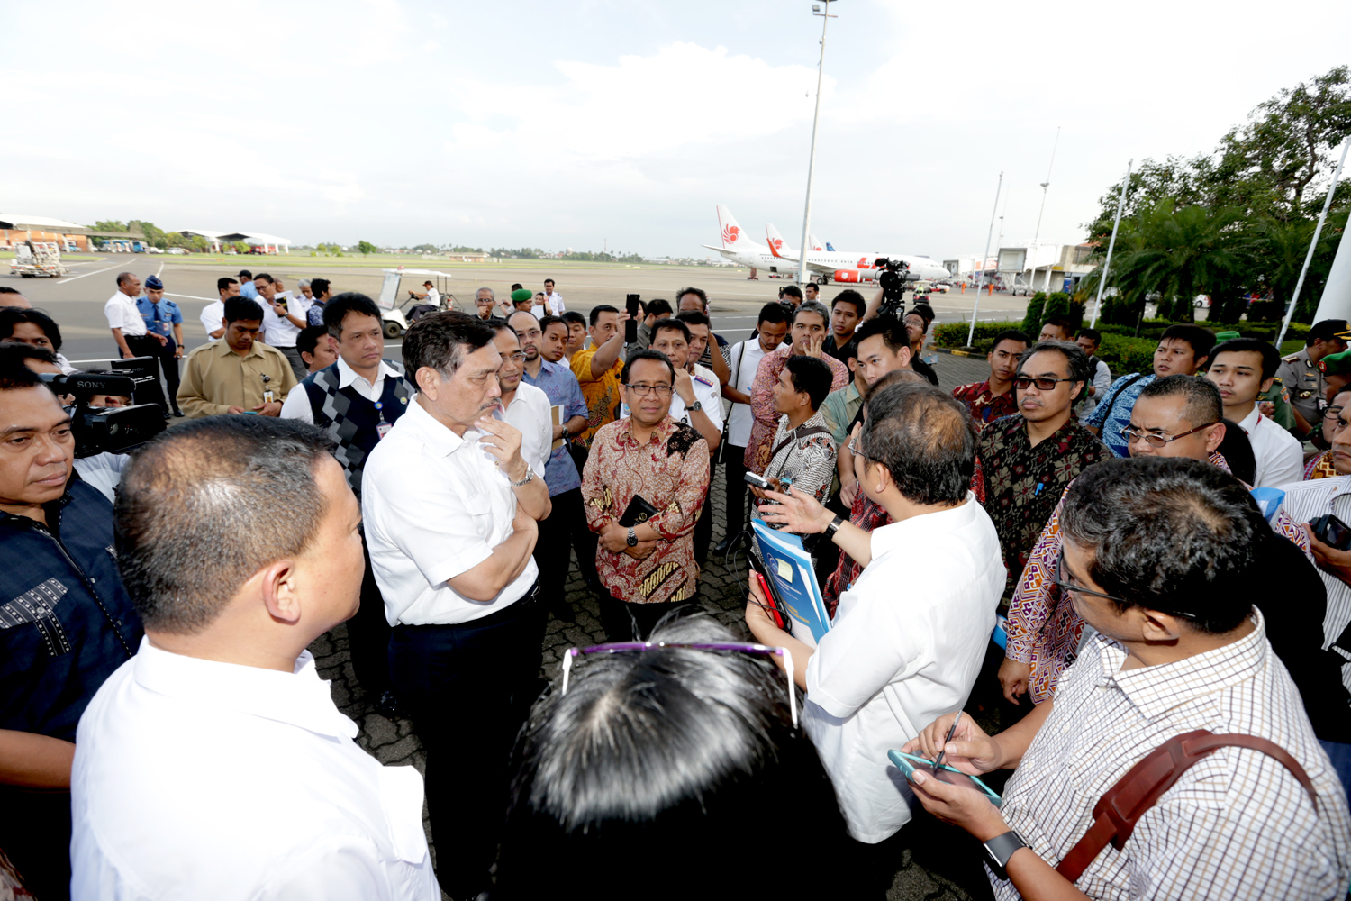
[[[457,625],[396,625],[389,675],[427,748],[427,812],[436,878],[455,901],[490,885],[507,815],[508,763],[543,690],[544,611],[520,601]]]

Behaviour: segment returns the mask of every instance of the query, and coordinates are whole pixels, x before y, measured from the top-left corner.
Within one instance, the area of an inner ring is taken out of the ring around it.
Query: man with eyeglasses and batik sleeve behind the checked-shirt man
[[[1220,454],[1227,427],[1220,392],[1202,376],[1169,376],[1140,392],[1123,438],[1131,457],[1186,457],[1224,471]],[[1066,489],[1069,490],[1069,489]],[[1019,704],[1024,694],[1040,704],[1050,698],[1065,669],[1088,640],[1084,620],[1063,602],[1050,575],[1061,554],[1061,515],[1065,496],[1036,540],[1009,602],[1008,644],[998,679],[1004,697]],[[1281,508],[1271,528],[1308,552],[1304,531]]]

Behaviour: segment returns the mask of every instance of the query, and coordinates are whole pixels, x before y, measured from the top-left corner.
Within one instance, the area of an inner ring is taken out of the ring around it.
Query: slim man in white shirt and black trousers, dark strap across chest
[[[746,444],[751,439],[751,426],[755,421],[751,413],[751,386],[755,384],[755,373],[759,371],[759,361],[765,354],[778,350],[785,336],[788,336],[788,312],[782,304],[769,303],[761,307],[755,334],[723,349],[731,374],[723,385],[723,397],[732,401],[732,409],[727,415],[727,440],[721,453],[723,465],[727,467],[727,535],[713,548],[716,554],[725,554],[732,539],[746,527],[744,457]]]

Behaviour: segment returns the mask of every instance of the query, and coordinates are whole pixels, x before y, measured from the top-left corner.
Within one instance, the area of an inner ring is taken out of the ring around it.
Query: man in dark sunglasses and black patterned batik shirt
[[[1019,412],[981,431],[975,446],[977,496],[1000,534],[1008,569],[1004,597],[1017,585],[1042,527],[1065,486],[1111,451],[1074,421],[1074,401],[1092,380],[1089,358],[1067,340],[1040,340],[1013,376]]]

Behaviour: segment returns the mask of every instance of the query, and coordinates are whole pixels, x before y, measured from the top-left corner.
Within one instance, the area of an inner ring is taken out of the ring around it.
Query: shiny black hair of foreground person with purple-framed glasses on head
[[[735,642],[707,616],[667,621],[653,642]],[[794,661],[794,666],[802,666]],[[651,901],[744,897],[757,867],[684,855],[653,873],[653,848],[690,836],[704,847],[746,839],[748,812],[782,806],[812,824],[816,852],[839,859],[844,823],[820,756],[793,728],[794,690],[767,658],[742,651],[654,647],[577,658],[567,694],[535,702],[512,754],[512,789],[493,896],[558,894],[559,873],[604,873]],[[831,867],[807,867],[792,896],[827,897]]]

